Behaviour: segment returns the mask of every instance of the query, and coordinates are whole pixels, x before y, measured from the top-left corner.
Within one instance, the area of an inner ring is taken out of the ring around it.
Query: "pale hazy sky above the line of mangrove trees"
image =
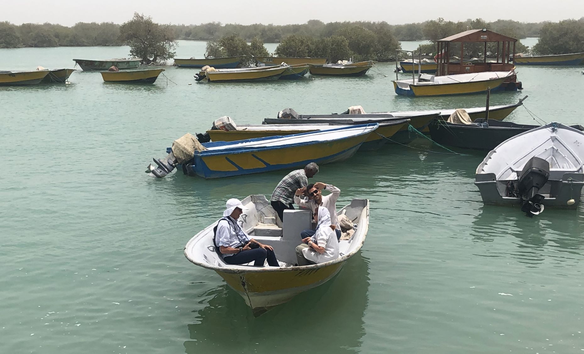
[[[51,22],[65,26],[77,22],[123,23],[131,19],[134,12],[150,15],[155,22],[173,24],[213,21],[288,24],[304,23],[310,19],[323,22],[368,20],[401,24],[437,17],[453,21],[482,17],[486,21],[513,19],[540,22],[579,19],[584,16],[584,0],[116,0],[89,3],[84,0],[0,0],[0,3],[0,22]],[[413,8],[408,10],[408,5],[413,5]]]

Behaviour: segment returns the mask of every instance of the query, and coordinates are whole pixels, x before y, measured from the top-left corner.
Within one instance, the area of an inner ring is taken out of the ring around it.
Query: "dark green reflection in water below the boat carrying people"
[[[358,252],[333,281],[256,318],[241,306],[237,293],[218,286],[208,292],[213,297],[207,306],[193,311],[196,323],[187,325],[185,352],[265,353],[277,348],[278,353],[298,353],[307,335],[319,328],[324,330],[318,331],[317,341],[310,341],[311,352],[357,352],[365,334],[369,280],[369,259]]]

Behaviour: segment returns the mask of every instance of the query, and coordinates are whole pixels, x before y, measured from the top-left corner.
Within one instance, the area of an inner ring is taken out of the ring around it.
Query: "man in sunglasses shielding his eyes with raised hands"
[[[322,190],[330,191],[331,194],[322,196]],[[301,195],[308,197],[308,201],[304,198],[300,198]],[[306,188],[298,188],[296,194],[294,195],[294,203],[300,205],[304,208],[310,209],[314,212],[319,206],[324,206],[331,213],[331,225],[335,225],[336,229],[336,239],[340,239],[340,226],[339,221],[336,218],[336,201],[339,199],[340,190],[332,184],[324,184],[322,182],[317,182],[315,184],[309,184]],[[314,230],[304,230],[300,233],[300,236],[304,239],[305,237],[311,237],[314,235]]]

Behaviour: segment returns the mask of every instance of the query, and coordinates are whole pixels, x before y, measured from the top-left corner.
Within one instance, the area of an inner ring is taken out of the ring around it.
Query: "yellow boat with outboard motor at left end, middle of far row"
[[[196,81],[207,82],[237,82],[277,80],[288,69],[288,66],[263,66],[260,68],[218,69],[207,68],[196,75]]]

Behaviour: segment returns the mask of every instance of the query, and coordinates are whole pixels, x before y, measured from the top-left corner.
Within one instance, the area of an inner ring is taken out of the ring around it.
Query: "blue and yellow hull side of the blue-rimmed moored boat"
[[[310,162],[326,164],[349,159],[360,148],[367,135],[338,141],[290,146],[256,152],[195,155],[192,172],[203,178],[223,178],[243,174],[294,169]]]

